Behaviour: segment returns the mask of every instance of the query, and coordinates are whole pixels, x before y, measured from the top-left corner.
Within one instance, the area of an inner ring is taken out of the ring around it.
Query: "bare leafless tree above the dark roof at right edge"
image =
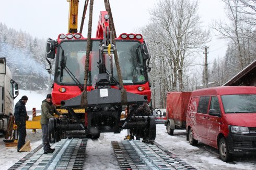
[[[245,5],[241,6],[241,0],[222,1],[225,3],[228,22],[214,21],[211,27],[219,33],[220,38],[225,38],[236,46],[235,57],[238,59],[239,70],[242,70],[255,58],[251,55],[255,25],[247,22],[250,17],[245,12]]]

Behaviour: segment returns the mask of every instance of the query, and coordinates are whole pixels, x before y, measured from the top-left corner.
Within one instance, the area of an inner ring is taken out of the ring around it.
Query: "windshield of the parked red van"
[[[223,95],[225,113],[256,113],[256,95]]]

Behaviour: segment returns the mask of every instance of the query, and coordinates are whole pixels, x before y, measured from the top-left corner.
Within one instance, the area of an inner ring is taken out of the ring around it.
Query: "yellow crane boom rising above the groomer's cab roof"
[[[77,33],[78,0],[67,0],[69,2],[68,33]]]

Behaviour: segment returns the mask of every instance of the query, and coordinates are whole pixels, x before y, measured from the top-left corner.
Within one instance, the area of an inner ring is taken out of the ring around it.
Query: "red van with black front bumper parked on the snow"
[[[192,91],[186,121],[190,144],[217,148],[225,162],[234,154],[256,153],[256,87]]]

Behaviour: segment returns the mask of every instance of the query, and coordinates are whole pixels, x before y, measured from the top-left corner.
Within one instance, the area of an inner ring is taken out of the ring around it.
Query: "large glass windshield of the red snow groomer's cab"
[[[139,42],[117,41],[119,64],[124,84],[143,84],[146,81],[146,62],[143,60]],[[89,59],[88,85],[94,83],[99,73],[99,45],[100,41],[92,41]],[[84,71],[86,59],[87,41],[65,41],[58,49],[55,80],[58,84],[74,85],[73,74],[80,84],[84,84]],[[117,67],[114,55],[103,54],[102,62],[106,66],[107,73],[118,82]],[[70,72],[69,72],[70,71]],[[69,72],[69,74],[68,74]],[[112,79],[111,79],[112,80]],[[115,81],[111,81],[115,84]]]

